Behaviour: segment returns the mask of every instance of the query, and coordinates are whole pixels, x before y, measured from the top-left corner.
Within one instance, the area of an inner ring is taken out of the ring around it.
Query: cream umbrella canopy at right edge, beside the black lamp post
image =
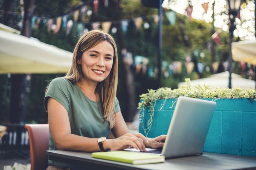
[[[232,42],[232,58],[256,66],[256,40]]]

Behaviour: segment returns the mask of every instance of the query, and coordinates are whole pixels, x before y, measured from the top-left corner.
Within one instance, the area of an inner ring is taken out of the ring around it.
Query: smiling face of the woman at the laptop
[[[101,41],[91,49],[84,51],[78,63],[81,63],[82,77],[85,81],[102,82],[109,76],[113,66],[114,49],[108,41]]]

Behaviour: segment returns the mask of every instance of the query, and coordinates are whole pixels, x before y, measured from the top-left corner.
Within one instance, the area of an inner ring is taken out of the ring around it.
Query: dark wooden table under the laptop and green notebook
[[[103,168],[104,170],[129,169],[129,170],[213,170],[213,169],[256,169],[256,157],[245,157],[217,153],[206,153],[191,157],[166,158],[164,163],[132,165],[127,163],[97,159],[88,152],[74,151],[46,151],[50,160],[84,167],[85,169]]]

